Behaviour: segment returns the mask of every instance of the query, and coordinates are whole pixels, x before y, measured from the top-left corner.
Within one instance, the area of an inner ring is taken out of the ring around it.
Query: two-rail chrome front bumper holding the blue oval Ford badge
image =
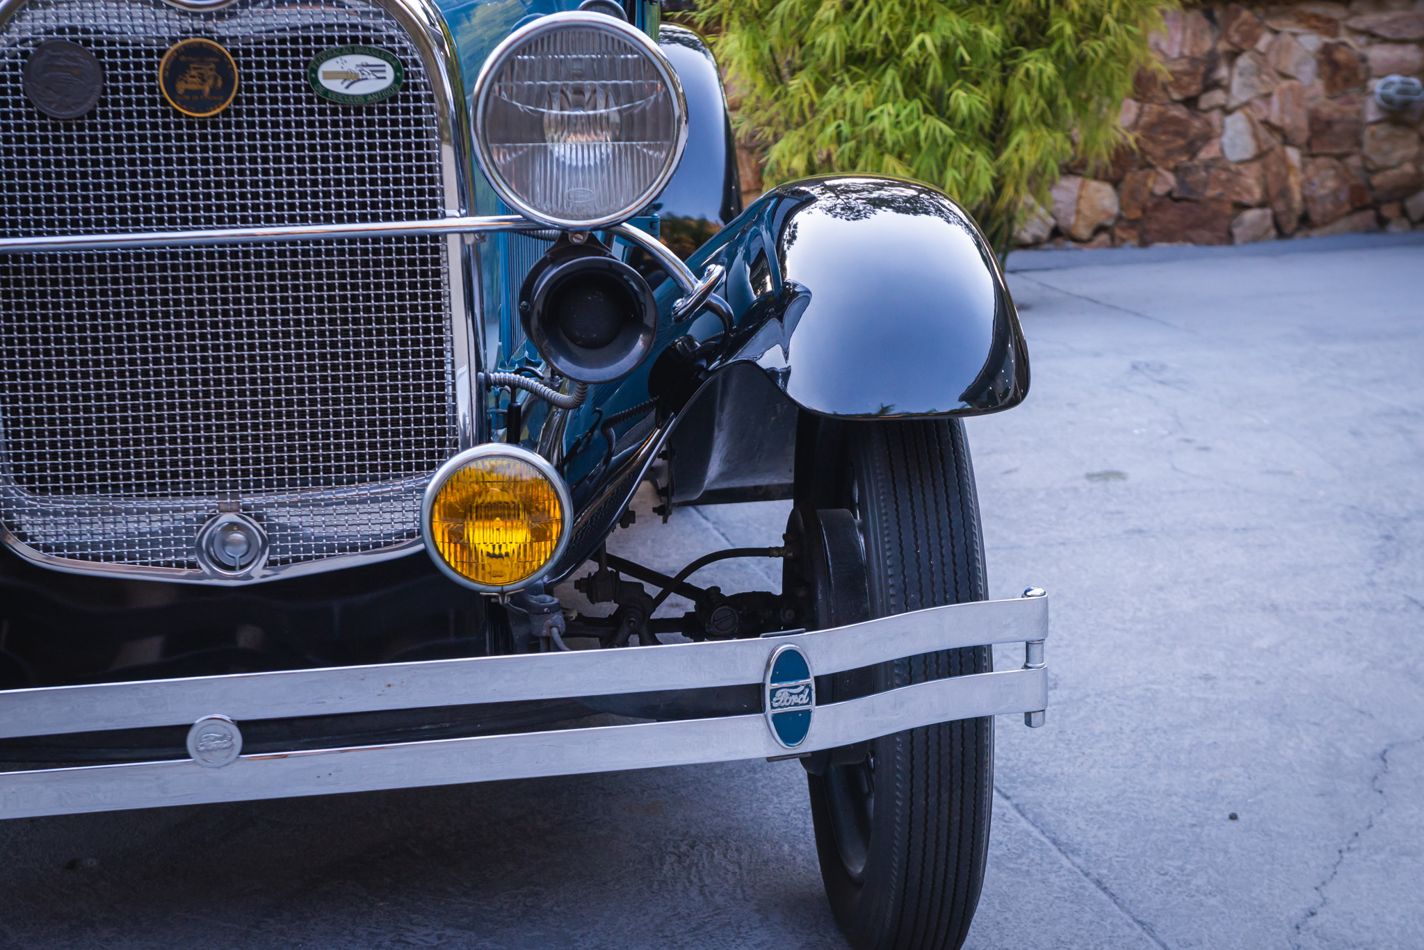
[[[187,725],[211,716],[241,729],[251,719],[759,684],[783,645],[797,648],[812,674],[823,675],[937,649],[1025,642],[1022,669],[813,706],[810,729],[790,752],[799,755],[974,716],[1024,714],[1025,724],[1042,725],[1047,634],[1048,598],[1040,595],[760,640],[11,689],[0,692],[0,738]],[[733,715],[238,755],[221,768],[181,759],[0,772],[0,819],[787,755],[769,722],[766,715]]]

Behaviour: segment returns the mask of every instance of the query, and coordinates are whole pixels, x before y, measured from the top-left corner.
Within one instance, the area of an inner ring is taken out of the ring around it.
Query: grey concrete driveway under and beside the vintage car
[[[1011,276],[1032,396],[968,432],[1054,687],[998,724],[970,947],[1424,946],[1424,246],[1321,246]],[[786,508],[644,503],[615,547]],[[0,946],[843,943],[800,766],[745,762],[0,823]]]

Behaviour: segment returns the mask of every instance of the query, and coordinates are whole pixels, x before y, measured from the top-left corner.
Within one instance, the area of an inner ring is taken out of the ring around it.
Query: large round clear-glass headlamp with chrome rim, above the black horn
[[[600,13],[554,13],[486,60],[474,81],[474,141],[504,204],[585,231],[658,197],[688,141],[688,105],[644,33]]]

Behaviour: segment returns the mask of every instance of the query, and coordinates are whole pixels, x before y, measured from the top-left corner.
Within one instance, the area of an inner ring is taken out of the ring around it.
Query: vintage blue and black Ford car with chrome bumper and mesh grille
[[[0,3],[0,818],[796,758],[852,943],[963,941],[1047,705],[961,423],[1018,318],[926,185],[743,209],[659,20]],[[790,517],[668,575],[648,483]]]

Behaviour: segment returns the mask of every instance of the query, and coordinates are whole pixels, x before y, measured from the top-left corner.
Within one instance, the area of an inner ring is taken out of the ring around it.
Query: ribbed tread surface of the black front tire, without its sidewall
[[[883,602],[877,615],[985,597],[978,504],[963,424],[893,422],[857,433],[874,471]],[[899,661],[896,685],[981,672],[988,648],[926,654]],[[960,947],[968,934],[983,884],[991,805],[993,734],[985,719],[911,729],[894,736],[897,785],[894,839],[903,859],[891,862],[887,884],[893,912],[867,946],[897,950]],[[948,772],[940,769],[948,766]],[[909,792],[910,802],[904,800]],[[913,808],[911,808],[913,806]],[[983,835],[961,829],[983,828]],[[887,907],[886,910],[891,910]]]

